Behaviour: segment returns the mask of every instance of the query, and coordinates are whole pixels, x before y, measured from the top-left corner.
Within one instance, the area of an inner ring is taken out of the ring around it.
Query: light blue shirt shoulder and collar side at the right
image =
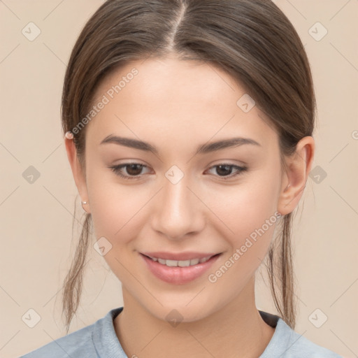
[[[298,334],[285,321],[278,318],[275,333],[260,358],[342,358],[327,348]]]

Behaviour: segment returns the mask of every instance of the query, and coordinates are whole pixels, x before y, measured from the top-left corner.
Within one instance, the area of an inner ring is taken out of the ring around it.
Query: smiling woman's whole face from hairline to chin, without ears
[[[236,300],[268,250],[278,135],[245,93],[218,67],[175,58],[131,62],[96,91],[80,194],[126,297],[160,319],[176,309],[199,320]],[[210,146],[233,138],[246,141]],[[182,254],[169,258],[185,267],[143,255],[153,252]],[[220,255],[186,266],[190,252]]]

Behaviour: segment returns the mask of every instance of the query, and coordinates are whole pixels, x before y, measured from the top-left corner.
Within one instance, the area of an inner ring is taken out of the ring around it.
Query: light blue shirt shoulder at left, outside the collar
[[[78,331],[74,331],[67,336],[57,338],[55,341],[47,343],[42,347],[33,350],[19,358],[69,358],[69,357],[88,357],[96,358],[96,350],[92,343],[92,331],[94,324],[91,324]]]

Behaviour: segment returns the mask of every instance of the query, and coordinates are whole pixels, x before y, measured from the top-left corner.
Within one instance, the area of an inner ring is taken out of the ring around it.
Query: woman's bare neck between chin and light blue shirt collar
[[[195,322],[168,322],[145,310],[123,288],[124,309],[115,317],[115,332],[128,357],[236,357],[262,355],[275,329],[255,306],[255,279],[226,306]]]

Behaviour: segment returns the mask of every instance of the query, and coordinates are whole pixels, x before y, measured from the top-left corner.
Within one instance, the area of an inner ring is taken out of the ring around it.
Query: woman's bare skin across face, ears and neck
[[[122,282],[124,310],[114,320],[128,357],[259,357],[275,329],[255,306],[255,271],[273,238],[272,224],[216,282],[215,273],[265,220],[297,206],[313,163],[315,142],[302,138],[296,154],[280,166],[278,135],[254,106],[236,105],[245,89],[210,64],[176,57],[135,61],[110,74],[96,99],[133,68],[138,75],[87,124],[86,171],[76,148],[66,151],[84,210],[92,214],[96,238],[112,245],[103,256]],[[97,103],[94,101],[94,103]],[[114,143],[113,134],[141,139],[159,155]],[[208,141],[243,136],[261,146],[241,145],[194,155]],[[108,166],[138,162],[125,180]],[[215,165],[248,166],[221,172]],[[165,176],[176,165],[184,177],[173,184]],[[223,180],[224,176],[231,176]],[[289,187],[287,187],[289,185]],[[223,252],[208,273],[185,285],[156,278],[138,252]],[[171,310],[182,315],[172,327]]]

